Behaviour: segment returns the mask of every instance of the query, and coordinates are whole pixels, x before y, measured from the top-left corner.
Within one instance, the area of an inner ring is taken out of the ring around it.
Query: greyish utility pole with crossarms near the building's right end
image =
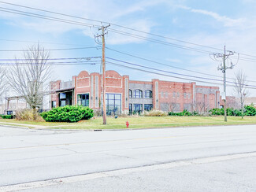
[[[227,122],[227,109],[226,109],[226,96],[227,96],[227,85],[226,85],[226,70],[228,69],[228,68],[230,68],[230,69],[232,69],[232,68],[234,68],[234,66],[235,65],[233,65],[232,64],[232,62],[231,62],[231,64],[230,64],[230,66],[228,66],[227,64],[226,64],[226,60],[228,59],[228,57],[229,56],[231,56],[231,55],[233,55],[233,54],[235,54],[235,52],[234,51],[230,51],[230,50],[228,50],[228,51],[226,51],[226,46],[224,46],[224,54],[216,54],[216,53],[214,53],[213,54],[213,57],[214,57],[214,59],[215,59],[215,61],[218,61],[217,60],[217,58],[221,58],[221,65],[219,65],[218,66],[218,70],[221,70],[222,72],[223,72],[223,84],[224,84],[224,95],[223,95],[223,100],[224,100],[224,121],[225,122]]]

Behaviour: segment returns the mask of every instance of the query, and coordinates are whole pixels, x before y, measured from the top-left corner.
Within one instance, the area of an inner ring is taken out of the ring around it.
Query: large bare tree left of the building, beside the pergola
[[[24,61],[16,60],[9,68],[8,80],[10,87],[33,109],[33,119],[36,118],[36,108],[43,105],[43,93],[50,80],[50,65],[47,61],[50,52],[39,44],[29,46],[23,52]]]

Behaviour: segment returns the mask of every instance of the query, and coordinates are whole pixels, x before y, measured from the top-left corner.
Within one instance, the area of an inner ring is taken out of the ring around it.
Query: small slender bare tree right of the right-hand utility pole
[[[247,84],[247,76],[243,74],[241,70],[235,74],[236,78],[234,80],[235,83],[235,92],[237,95],[237,98],[239,98],[239,104],[241,107],[241,113],[242,113],[242,119],[243,119],[243,105],[245,98],[249,94],[249,91],[247,90],[246,84]]]

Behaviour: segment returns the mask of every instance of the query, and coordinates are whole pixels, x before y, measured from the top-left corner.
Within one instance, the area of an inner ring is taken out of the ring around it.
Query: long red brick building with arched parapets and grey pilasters
[[[51,107],[85,105],[94,110],[101,107],[102,80],[97,72],[80,72],[72,81],[51,82]],[[219,87],[198,86],[152,79],[130,80],[115,71],[106,71],[106,112],[132,113],[150,109],[180,112],[184,109],[204,112],[220,107]]]

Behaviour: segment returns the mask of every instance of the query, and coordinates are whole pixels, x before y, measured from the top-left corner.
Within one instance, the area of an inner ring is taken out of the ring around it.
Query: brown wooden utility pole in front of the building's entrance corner
[[[102,34],[95,35],[95,39],[101,37],[102,38],[102,116],[103,116],[103,124],[106,124],[106,59],[105,59],[105,35],[106,28],[110,26],[102,26],[98,28],[98,31],[102,31]]]

